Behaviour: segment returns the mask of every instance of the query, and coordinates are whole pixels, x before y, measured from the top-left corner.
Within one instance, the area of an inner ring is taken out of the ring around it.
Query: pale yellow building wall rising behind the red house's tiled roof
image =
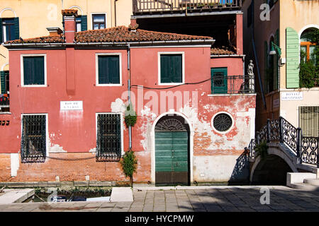
[[[1,0],[1,18],[19,18],[19,30],[22,38],[49,35],[46,28],[62,25],[61,10],[74,8],[79,15],[87,15],[87,29],[92,29],[92,13],[106,13],[106,28],[130,24],[132,0]],[[7,9],[6,9],[7,8]],[[116,19],[115,19],[116,14]],[[8,50],[0,46],[0,70],[8,70]],[[6,65],[6,66],[5,66]]]

